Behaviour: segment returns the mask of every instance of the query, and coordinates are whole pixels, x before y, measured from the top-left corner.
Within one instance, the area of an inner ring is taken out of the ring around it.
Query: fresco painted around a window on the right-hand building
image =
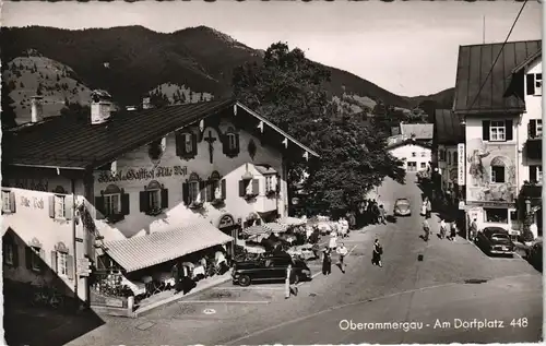
[[[480,139],[468,141],[466,200],[514,203],[515,156],[514,144],[486,144]]]

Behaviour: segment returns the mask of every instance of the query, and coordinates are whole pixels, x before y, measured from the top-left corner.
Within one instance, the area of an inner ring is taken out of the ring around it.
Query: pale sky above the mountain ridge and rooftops
[[[63,28],[143,25],[174,32],[206,25],[252,48],[287,41],[307,57],[404,96],[454,86],[460,45],[503,41],[521,3],[310,2],[4,2],[2,26]],[[542,5],[530,1],[510,40],[542,37]],[[221,57],[218,57],[221,58]]]

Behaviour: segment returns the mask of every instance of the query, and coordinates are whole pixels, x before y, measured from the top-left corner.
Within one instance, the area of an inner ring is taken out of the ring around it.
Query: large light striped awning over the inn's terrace
[[[128,273],[234,240],[206,222],[106,242],[106,253]]]

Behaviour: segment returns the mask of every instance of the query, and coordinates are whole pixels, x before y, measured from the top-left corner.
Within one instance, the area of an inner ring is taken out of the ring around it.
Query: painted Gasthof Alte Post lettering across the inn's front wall
[[[152,180],[159,177],[186,176],[188,167],[174,166],[174,167],[156,167],[152,169],[146,168],[129,168],[119,169],[116,175],[109,170],[100,171],[96,176],[97,182],[115,182],[115,181],[132,181],[132,180]]]

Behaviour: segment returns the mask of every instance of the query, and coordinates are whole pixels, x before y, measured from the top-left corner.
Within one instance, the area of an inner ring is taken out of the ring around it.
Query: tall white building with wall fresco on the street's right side
[[[460,47],[453,110],[465,123],[467,220],[475,218],[480,228],[500,226],[517,234],[523,181],[533,171],[538,176],[542,154],[526,133],[530,123],[539,128],[539,40]],[[526,95],[529,74],[535,83],[532,95]]]

